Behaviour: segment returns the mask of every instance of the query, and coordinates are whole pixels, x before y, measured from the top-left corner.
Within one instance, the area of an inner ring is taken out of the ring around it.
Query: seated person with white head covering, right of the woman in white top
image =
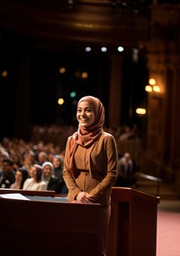
[[[44,162],[42,164],[43,174],[42,179],[47,184],[47,190],[54,190],[56,194],[62,194],[64,182],[55,177],[53,173],[53,165],[51,162]],[[63,191],[63,194],[64,191]]]

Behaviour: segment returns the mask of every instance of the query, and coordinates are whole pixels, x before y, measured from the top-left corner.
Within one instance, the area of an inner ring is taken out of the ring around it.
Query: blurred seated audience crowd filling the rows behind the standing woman
[[[52,185],[48,180],[45,181],[47,177],[44,176],[42,169],[40,172],[43,174],[44,181],[39,180],[37,182],[34,175],[34,169],[36,169],[34,165],[43,166],[44,163],[49,162],[53,166],[49,176],[51,175],[53,179],[58,180],[58,188],[53,190],[59,194],[67,194],[67,186],[62,176],[64,150],[67,137],[75,130],[76,127],[73,126],[35,126],[32,128],[31,141],[27,142],[17,137],[12,139],[4,137],[0,142],[0,187],[19,188],[23,186],[23,189],[26,189],[24,187],[39,189],[42,185],[43,189],[46,187],[46,189],[51,190]],[[112,128],[105,127],[104,130],[112,133],[117,141],[139,138],[136,125],[130,128],[113,124]],[[24,172],[20,173],[22,168],[28,172],[28,177],[27,182],[25,181],[24,184],[20,185],[20,180],[23,180],[23,175],[25,175]],[[39,171],[36,170],[36,172]]]

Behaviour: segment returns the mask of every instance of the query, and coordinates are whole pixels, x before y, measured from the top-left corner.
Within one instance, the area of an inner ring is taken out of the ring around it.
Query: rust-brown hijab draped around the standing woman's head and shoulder
[[[81,98],[80,102],[87,101],[90,103],[91,107],[94,110],[94,123],[89,127],[81,127],[79,125],[77,131],[73,134],[70,139],[70,152],[69,152],[69,169],[72,173],[76,174],[76,165],[74,161],[74,155],[76,152],[76,147],[78,145],[82,147],[91,147],[97,137],[103,132],[103,122],[104,122],[104,109],[102,102],[93,97],[93,96],[85,96]],[[76,176],[76,175],[75,175]]]

